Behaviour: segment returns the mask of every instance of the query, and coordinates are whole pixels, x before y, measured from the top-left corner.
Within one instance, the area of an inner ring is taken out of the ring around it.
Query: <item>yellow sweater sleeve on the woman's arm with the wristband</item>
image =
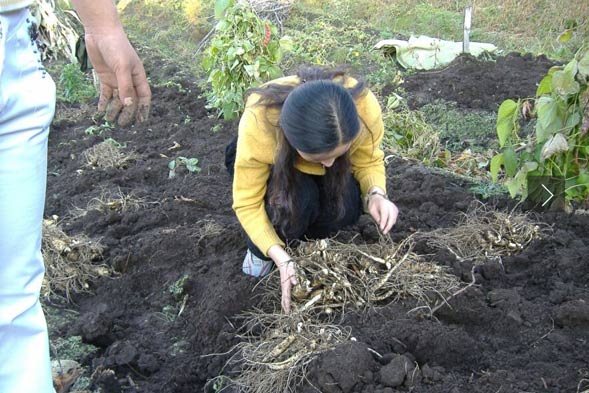
[[[380,104],[374,94],[368,91],[356,105],[363,124],[355,149],[350,154],[352,173],[363,195],[372,186],[386,191],[384,152],[380,148],[384,137]]]

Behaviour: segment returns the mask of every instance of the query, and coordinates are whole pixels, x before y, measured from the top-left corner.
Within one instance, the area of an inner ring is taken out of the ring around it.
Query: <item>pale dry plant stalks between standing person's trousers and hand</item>
[[[35,1],[31,13],[39,23],[37,41],[43,60],[64,57],[70,63],[77,62],[76,42],[83,27],[76,13],[56,6],[54,0]]]

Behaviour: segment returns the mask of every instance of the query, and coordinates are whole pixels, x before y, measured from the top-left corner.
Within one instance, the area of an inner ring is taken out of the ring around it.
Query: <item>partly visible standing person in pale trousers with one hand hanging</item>
[[[55,85],[34,41],[33,0],[0,0],[0,392],[53,392],[39,292]],[[99,111],[143,121],[151,92],[111,0],[73,0],[100,79]],[[120,114],[119,114],[120,112]]]

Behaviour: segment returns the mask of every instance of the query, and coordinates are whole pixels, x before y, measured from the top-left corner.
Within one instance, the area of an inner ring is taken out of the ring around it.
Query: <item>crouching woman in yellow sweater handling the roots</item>
[[[383,233],[395,224],[383,135],[376,97],[341,70],[308,68],[251,91],[226,164],[248,237],[243,271],[263,276],[275,264],[285,312],[296,283],[285,242],[333,235],[363,205]]]

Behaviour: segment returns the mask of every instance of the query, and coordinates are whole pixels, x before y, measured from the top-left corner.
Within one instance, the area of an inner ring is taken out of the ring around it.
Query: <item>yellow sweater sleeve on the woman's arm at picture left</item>
[[[252,242],[268,255],[275,244],[284,246],[265,209],[264,196],[274,160],[276,142],[258,108],[247,108],[239,122],[233,209]]]

